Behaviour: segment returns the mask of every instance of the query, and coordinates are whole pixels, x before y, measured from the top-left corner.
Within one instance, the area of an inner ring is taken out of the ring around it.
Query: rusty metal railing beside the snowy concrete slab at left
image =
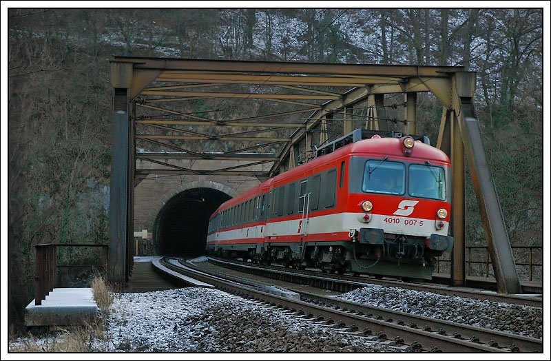
[[[107,270],[109,261],[109,245],[85,245],[75,243],[35,245],[35,276],[34,276],[34,305],[42,305],[48,293],[56,287],[58,267],[74,267],[71,265],[57,265],[57,247],[101,247],[103,269]],[[76,266],[83,267],[83,266]],[[90,266],[86,266],[90,267]]]

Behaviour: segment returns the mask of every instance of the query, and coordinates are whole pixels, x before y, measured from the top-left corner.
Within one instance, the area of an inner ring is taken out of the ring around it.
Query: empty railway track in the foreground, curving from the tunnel
[[[258,291],[244,285],[243,279],[227,274],[199,269],[186,263],[176,265],[163,260],[165,267],[215,285],[218,289],[289,310],[325,324],[335,324],[351,331],[362,330],[366,336],[377,336],[395,344],[407,344],[412,351],[445,352],[512,352],[543,350],[541,340],[523,338],[508,333],[477,329],[453,322],[410,315],[407,313],[368,307],[344,300],[335,300],[313,293],[300,292],[301,299],[294,300]]]

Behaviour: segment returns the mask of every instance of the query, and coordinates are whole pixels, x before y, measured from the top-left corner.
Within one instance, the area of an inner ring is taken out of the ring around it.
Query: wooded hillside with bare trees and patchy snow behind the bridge
[[[11,9],[8,21],[12,321],[32,299],[34,245],[108,243],[112,55],[463,65],[511,241],[541,245],[541,9]],[[435,141],[441,104],[418,102]],[[467,243],[484,245],[467,185]]]

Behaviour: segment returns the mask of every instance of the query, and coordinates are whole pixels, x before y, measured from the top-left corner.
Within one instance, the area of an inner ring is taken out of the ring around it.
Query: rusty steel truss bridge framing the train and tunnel
[[[397,125],[401,132],[417,134],[424,122],[417,119],[417,93],[430,92],[443,109],[436,146],[452,161],[451,282],[464,285],[466,279],[467,163],[497,287],[501,292],[520,293],[475,116],[475,83],[476,73],[462,67],[115,56],[111,61],[112,280],[125,282],[129,277],[134,189],[147,176],[264,180],[307,161],[313,145],[348,134],[358,125],[371,130]],[[388,104],[389,94],[393,99],[399,96],[400,103]],[[391,106],[399,116],[386,116]],[[242,111],[243,116],[228,118],[228,110]],[[154,150],[144,152],[146,148]],[[163,153],[167,151],[171,154]],[[203,167],[185,167],[175,163],[178,159],[197,160]]]

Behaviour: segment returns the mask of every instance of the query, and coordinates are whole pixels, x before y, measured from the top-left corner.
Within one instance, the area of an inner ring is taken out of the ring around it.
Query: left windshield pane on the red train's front
[[[388,162],[386,158],[367,161],[362,190],[371,193],[404,194],[406,168],[403,163]]]

